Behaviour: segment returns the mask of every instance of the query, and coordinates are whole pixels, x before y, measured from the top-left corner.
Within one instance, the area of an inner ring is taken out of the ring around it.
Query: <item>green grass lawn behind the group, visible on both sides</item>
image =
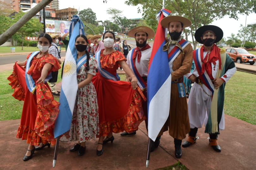
[[[12,97],[13,89],[8,85],[7,77],[12,71],[4,71],[0,75],[0,121],[19,119],[23,101]],[[61,81],[58,74],[58,82]],[[120,75],[125,80],[125,75]],[[256,125],[255,92],[256,75],[236,71],[234,76],[226,84],[224,113],[237,117],[243,121]],[[58,101],[59,96],[54,96]]]

